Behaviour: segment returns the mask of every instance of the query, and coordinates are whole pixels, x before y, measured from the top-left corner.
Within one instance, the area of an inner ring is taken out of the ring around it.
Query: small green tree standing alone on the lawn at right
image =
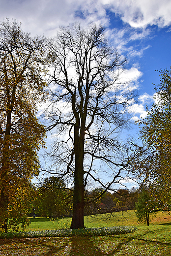
[[[138,202],[135,204],[137,209],[137,218],[139,222],[146,223],[149,226],[150,216],[156,215],[154,204],[147,190],[142,190],[138,196]]]

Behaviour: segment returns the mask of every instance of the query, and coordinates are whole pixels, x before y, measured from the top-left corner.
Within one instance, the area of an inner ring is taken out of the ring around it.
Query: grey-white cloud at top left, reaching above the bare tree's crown
[[[32,35],[54,36],[59,26],[79,21],[108,23],[105,6],[91,0],[1,0],[0,21],[8,17],[22,22],[24,31]]]

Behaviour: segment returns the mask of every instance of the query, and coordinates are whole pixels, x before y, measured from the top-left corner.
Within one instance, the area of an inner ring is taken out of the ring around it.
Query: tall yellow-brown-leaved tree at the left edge
[[[21,24],[0,24],[0,227],[18,230],[27,220],[30,180],[45,136],[36,117],[46,87],[45,37],[31,38]]]

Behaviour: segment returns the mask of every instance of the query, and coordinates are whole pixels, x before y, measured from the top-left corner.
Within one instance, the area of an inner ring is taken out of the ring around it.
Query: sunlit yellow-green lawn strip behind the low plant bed
[[[30,225],[26,231],[48,230],[69,228],[72,218],[62,218],[59,221],[53,221],[49,218],[30,218]],[[157,216],[152,219],[150,225],[171,223],[171,215],[169,213],[158,212]],[[103,227],[115,225],[142,226],[137,222],[136,211],[130,210],[125,212],[116,212],[113,214],[104,214],[96,216],[85,216],[86,227]]]

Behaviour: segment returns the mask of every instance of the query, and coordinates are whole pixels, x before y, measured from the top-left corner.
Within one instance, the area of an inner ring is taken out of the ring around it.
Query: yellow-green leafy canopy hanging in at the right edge
[[[145,157],[138,166],[141,177],[156,200],[171,207],[171,69],[159,70],[161,83],[155,87],[157,103],[139,122]]]

